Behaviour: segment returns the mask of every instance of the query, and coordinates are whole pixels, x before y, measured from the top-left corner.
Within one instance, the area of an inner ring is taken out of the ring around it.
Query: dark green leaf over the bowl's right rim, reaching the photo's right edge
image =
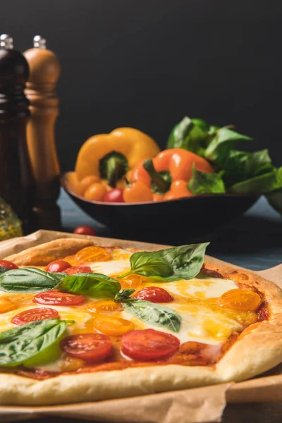
[[[235,194],[266,194],[281,188],[282,167],[274,169],[272,172],[255,176],[255,178],[250,178],[244,180],[243,182],[236,183],[229,188],[229,191]]]

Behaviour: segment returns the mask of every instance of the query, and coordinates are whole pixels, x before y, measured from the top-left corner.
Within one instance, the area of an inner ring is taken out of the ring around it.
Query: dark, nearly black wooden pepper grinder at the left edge
[[[0,36],[0,197],[23,223],[23,232],[35,229],[32,212],[34,178],[27,151],[26,124],[30,117],[25,97],[28,65],[13,49],[13,39]]]

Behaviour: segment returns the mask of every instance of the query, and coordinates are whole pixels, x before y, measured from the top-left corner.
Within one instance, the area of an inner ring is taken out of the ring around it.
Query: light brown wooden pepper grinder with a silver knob
[[[27,145],[36,181],[35,213],[39,228],[58,230],[61,213],[56,202],[60,168],[54,125],[59,114],[56,82],[61,68],[56,55],[46,49],[46,40],[39,35],[33,39],[33,49],[25,51],[24,56],[30,67],[25,94],[30,100]]]

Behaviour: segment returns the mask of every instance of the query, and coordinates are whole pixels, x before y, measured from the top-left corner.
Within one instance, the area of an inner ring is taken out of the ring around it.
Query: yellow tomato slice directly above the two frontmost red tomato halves
[[[130,332],[134,329],[134,324],[119,317],[103,316],[93,320],[94,329],[104,335],[121,336],[123,333]]]

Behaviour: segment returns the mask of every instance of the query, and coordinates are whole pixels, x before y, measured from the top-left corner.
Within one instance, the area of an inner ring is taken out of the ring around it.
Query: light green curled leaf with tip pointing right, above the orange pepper
[[[233,149],[239,141],[250,141],[251,137],[236,133],[228,128],[220,128],[217,130],[214,139],[208,145],[204,157],[210,161],[216,161],[225,157],[226,151]]]

